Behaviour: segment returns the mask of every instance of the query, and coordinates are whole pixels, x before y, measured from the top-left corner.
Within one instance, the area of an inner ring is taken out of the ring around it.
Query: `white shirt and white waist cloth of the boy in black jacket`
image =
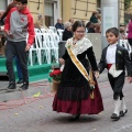
[[[118,77],[123,70],[117,70],[116,69],[116,51],[117,51],[117,44],[112,44],[108,46],[107,50],[107,64],[112,64],[110,69],[109,69],[109,74],[112,75],[113,77]]]

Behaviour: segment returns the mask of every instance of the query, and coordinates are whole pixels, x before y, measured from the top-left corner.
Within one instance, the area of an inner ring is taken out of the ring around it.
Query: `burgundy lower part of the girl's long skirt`
[[[98,114],[103,111],[103,105],[98,86],[94,90],[95,99],[90,96],[81,101],[64,101],[57,99],[55,96],[53,101],[53,110],[57,112],[65,112],[70,114]]]

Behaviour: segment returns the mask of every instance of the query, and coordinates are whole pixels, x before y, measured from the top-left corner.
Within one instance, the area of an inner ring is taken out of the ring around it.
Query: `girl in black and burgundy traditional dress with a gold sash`
[[[66,52],[59,58],[65,66],[53,101],[54,111],[73,114],[69,121],[78,120],[80,114],[98,114],[103,110],[96,80],[99,72],[92,44],[85,37],[85,24],[76,21],[73,32],[74,37],[67,40]]]

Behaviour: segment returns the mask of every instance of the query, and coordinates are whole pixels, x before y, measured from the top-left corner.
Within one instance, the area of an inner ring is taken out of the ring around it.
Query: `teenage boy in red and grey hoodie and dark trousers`
[[[13,58],[18,56],[23,75],[23,90],[29,88],[28,51],[34,42],[34,23],[26,4],[28,0],[15,0],[16,8],[12,8],[6,18],[4,31],[7,33],[6,57],[9,74],[8,91],[15,89],[15,76],[13,70]],[[29,38],[26,43],[26,35]]]

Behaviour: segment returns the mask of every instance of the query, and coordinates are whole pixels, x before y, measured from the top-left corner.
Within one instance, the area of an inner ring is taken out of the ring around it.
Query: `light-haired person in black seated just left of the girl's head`
[[[68,38],[73,37],[72,23],[65,22],[64,29],[65,30],[63,32],[63,41],[67,41]]]

